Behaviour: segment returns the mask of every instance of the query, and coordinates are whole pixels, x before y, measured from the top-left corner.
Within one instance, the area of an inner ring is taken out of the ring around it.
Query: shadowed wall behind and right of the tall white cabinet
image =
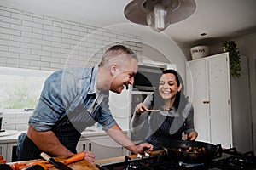
[[[250,99],[251,99],[251,112],[252,112],[252,127],[253,127],[253,150],[256,153],[256,34],[247,35],[233,39],[240,51],[241,55],[247,56],[248,59],[248,71],[250,80]],[[223,51],[222,44],[218,43],[212,45],[211,53],[218,54]],[[241,87],[241,90],[243,87]]]

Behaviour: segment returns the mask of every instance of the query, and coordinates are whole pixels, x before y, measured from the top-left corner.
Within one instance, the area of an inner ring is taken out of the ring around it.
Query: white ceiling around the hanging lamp
[[[131,0],[0,0],[1,4],[8,3],[15,8],[102,27],[131,23],[124,16],[124,8],[130,2]],[[170,25],[164,31],[174,41],[211,45],[256,32],[256,0],[195,0],[195,3],[194,14]],[[201,33],[207,35],[202,37]]]

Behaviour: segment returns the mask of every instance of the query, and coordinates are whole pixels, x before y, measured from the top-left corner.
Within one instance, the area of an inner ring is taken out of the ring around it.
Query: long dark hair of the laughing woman
[[[164,70],[163,74],[168,74],[171,73],[175,76],[176,78],[176,82],[177,82],[177,86],[180,86],[180,83],[182,84],[182,88],[179,92],[177,92],[176,94],[176,98],[174,100],[173,106],[176,109],[180,109],[180,111],[183,110],[183,108],[185,107],[185,105],[188,102],[188,99],[185,97],[184,94],[184,83],[183,83],[183,79],[182,77],[177,73],[177,71],[174,71],[172,69],[168,69],[168,70]],[[160,82],[160,81],[159,81]],[[159,84],[158,86],[155,88],[155,92],[154,92],[154,109],[160,109],[162,108],[162,106],[164,105],[164,99],[160,96],[159,93]]]

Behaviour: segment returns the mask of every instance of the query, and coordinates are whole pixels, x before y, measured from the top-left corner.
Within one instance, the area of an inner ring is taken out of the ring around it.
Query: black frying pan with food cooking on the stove
[[[186,163],[203,163],[207,161],[212,161],[212,159],[222,156],[221,145],[208,144],[201,141],[190,141],[190,140],[172,140],[166,147],[162,148],[165,150],[166,154],[177,161],[182,161]],[[189,147],[204,147],[206,151],[203,152],[187,152],[183,149]],[[178,150],[182,149],[182,150]]]

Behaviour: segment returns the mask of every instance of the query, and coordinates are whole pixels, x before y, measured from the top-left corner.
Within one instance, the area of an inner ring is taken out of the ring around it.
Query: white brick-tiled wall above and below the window
[[[138,56],[142,37],[0,6],[0,66],[55,71],[93,66],[113,43],[125,44]],[[24,130],[31,112],[3,113],[3,128]]]

